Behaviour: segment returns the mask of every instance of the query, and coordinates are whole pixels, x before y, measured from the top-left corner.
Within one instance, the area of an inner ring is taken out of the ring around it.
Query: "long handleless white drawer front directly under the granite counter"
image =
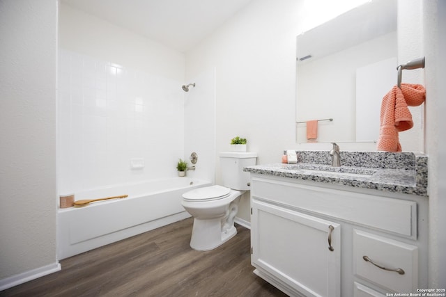
[[[417,239],[417,203],[378,195],[252,177],[251,195],[272,203]]]

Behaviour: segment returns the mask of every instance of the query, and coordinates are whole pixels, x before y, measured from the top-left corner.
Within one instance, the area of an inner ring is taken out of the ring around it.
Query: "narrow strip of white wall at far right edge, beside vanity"
[[[426,57],[426,152],[429,154],[429,287],[446,287],[446,1],[422,4],[423,52]],[[401,3],[401,5],[403,5]]]

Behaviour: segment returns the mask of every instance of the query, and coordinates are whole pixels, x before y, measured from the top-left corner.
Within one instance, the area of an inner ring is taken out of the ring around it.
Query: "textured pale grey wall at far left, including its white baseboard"
[[[57,1],[0,1],[0,290],[56,260]]]

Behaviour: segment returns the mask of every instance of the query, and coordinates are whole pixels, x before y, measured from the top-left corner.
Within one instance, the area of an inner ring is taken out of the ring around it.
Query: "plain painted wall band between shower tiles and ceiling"
[[[61,2],[59,46],[133,70],[183,81],[184,54]]]

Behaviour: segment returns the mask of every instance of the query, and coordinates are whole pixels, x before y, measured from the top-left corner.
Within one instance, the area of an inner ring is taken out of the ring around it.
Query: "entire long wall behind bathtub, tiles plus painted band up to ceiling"
[[[176,176],[183,54],[64,3],[59,11],[61,193]]]

